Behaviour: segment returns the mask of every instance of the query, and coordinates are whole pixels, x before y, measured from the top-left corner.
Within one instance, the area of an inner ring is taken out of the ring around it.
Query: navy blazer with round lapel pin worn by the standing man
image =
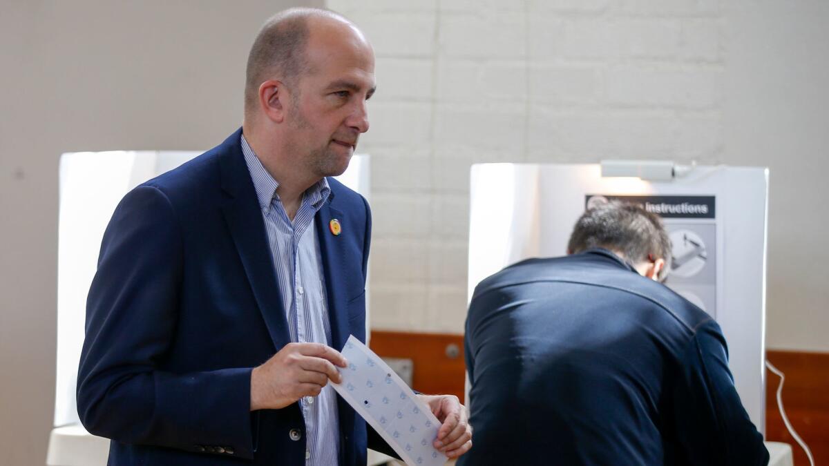
[[[77,400],[86,429],[112,439],[109,464],[305,462],[297,403],[250,412],[250,371],[290,337],[240,135],[133,189],[104,234]],[[371,213],[328,183],[315,221],[340,349],[366,337]],[[340,464],[366,464],[365,421],[339,397],[338,414]]]

